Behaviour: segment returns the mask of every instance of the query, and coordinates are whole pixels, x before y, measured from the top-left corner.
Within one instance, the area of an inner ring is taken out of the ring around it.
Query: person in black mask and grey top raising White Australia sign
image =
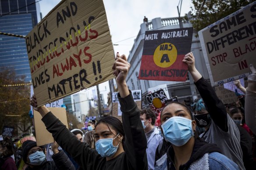
[[[203,99],[196,103],[195,115],[196,125],[205,128],[200,137],[206,142],[217,144],[225,156],[238,164],[240,170],[245,170],[238,127],[228,115],[213,87],[196,69],[192,52],[185,55],[183,62],[188,64],[188,71]]]

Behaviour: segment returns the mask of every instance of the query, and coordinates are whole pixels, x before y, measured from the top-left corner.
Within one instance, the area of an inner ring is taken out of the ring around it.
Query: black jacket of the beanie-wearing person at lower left
[[[42,165],[33,168],[27,167],[26,170],[75,170],[74,165],[63,150],[53,155],[52,158],[53,161],[45,161]]]

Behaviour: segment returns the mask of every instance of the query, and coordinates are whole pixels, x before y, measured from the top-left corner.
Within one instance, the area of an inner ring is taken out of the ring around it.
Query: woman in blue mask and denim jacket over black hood
[[[160,128],[172,145],[156,161],[155,170],[238,170],[238,165],[222,155],[216,144],[198,137],[192,118],[192,111],[179,102],[163,108]]]

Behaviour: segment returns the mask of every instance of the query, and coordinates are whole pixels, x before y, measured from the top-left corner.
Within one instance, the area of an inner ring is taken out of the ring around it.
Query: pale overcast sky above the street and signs
[[[103,0],[114,51],[129,55],[134,39],[138,35],[144,16],[149,21],[156,17],[178,17],[177,6],[180,0]],[[43,17],[60,0],[42,0],[39,2]],[[188,13],[191,0],[182,0],[181,16]],[[127,39],[122,41],[124,39]]]

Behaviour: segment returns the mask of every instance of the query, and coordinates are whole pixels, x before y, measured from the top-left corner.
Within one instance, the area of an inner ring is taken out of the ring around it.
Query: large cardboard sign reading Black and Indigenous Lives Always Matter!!
[[[102,0],[62,0],[25,39],[38,106],[114,78]]]

